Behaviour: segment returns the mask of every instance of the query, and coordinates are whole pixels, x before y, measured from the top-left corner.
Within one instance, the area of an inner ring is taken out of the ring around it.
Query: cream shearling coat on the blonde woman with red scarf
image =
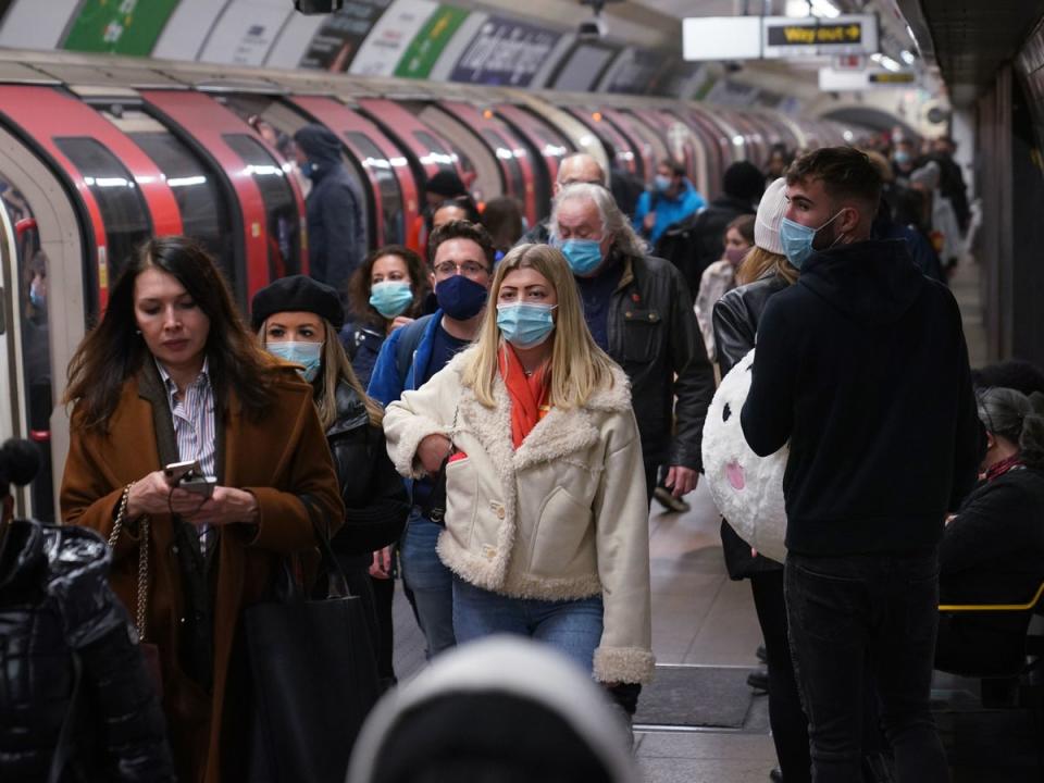
[[[496,378],[494,408],[461,383],[474,350],[403,393],[384,417],[388,453],[407,477],[424,475],[415,457],[427,435],[446,435],[467,455],[447,467],[439,558],[470,584],[514,598],[601,594],[595,676],[648,682],[648,501],[626,376],[614,366],[612,388],[580,410],[552,408],[515,450],[504,381]]]

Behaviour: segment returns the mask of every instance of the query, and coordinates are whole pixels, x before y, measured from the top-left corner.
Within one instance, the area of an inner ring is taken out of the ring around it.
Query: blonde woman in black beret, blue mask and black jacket
[[[253,297],[251,325],[270,353],[297,364],[311,384],[334,457],[345,524],[331,544],[370,619],[380,674],[390,683],[390,625],[378,620],[370,582],[373,552],[398,539],[409,506],[384,445],[384,411],[351,371],[337,338],[344,310],[337,291],[306,275],[276,281]]]

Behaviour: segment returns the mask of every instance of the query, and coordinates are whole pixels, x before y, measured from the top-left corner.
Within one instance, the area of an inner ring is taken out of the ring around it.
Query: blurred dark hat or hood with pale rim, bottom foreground
[[[560,652],[494,636],[385,695],[356,743],[348,783],[403,780],[448,761],[498,762],[532,780],[551,766],[577,783],[636,783],[626,734],[604,689]]]

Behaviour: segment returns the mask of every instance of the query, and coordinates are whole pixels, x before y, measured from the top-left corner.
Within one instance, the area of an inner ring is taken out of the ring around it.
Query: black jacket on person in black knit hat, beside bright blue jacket
[[[656,254],[678,266],[694,300],[704,270],[725,251],[725,226],[742,214],[754,214],[748,201],[721,196],[668,227],[656,244]]]

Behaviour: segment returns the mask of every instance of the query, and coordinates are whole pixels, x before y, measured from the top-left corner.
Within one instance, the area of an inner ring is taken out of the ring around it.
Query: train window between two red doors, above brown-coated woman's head
[[[132,139],[151,158],[174,194],[182,212],[183,231],[199,239],[217,259],[225,278],[236,290],[236,264],[228,204],[202,162],[169,133],[132,133]]]

